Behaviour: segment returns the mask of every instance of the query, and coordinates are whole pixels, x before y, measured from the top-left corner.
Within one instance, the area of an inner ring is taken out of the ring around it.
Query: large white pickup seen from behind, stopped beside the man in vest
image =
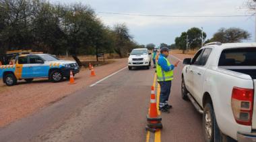
[[[256,141],[256,43],[206,44],[183,64],[182,98],[203,114],[205,141]]]

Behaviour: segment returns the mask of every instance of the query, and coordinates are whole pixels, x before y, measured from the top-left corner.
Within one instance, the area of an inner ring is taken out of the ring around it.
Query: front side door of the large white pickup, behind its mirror
[[[195,56],[193,57],[192,61],[191,61],[191,65],[187,65],[185,72],[186,72],[186,76],[185,76],[185,84],[187,87],[187,90],[189,90],[189,92],[191,94],[193,94],[193,64],[199,60],[199,58],[201,58],[201,54],[202,54],[203,50],[199,50]]]

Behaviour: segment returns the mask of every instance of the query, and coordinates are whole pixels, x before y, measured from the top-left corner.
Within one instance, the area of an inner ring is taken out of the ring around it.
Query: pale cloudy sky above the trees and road
[[[240,27],[255,39],[255,16],[251,17],[143,17],[113,15],[129,13],[143,15],[253,15],[244,8],[246,0],[49,0],[51,3],[82,3],[90,5],[105,25],[113,27],[125,23],[138,44],[174,44],[181,32],[191,27],[203,27],[207,39],[212,38],[220,27]]]

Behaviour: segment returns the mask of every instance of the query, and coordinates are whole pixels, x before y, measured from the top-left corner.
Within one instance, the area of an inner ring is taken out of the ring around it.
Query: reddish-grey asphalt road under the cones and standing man
[[[170,96],[174,109],[162,114],[161,141],[203,141],[201,115],[181,99],[182,67],[174,71]],[[125,68],[1,128],[0,141],[146,141],[154,71]]]

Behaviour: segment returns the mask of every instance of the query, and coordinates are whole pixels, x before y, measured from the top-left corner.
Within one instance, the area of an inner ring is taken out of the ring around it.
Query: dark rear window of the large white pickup
[[[218,66],[256,66],[256,48],[223,50]]]

